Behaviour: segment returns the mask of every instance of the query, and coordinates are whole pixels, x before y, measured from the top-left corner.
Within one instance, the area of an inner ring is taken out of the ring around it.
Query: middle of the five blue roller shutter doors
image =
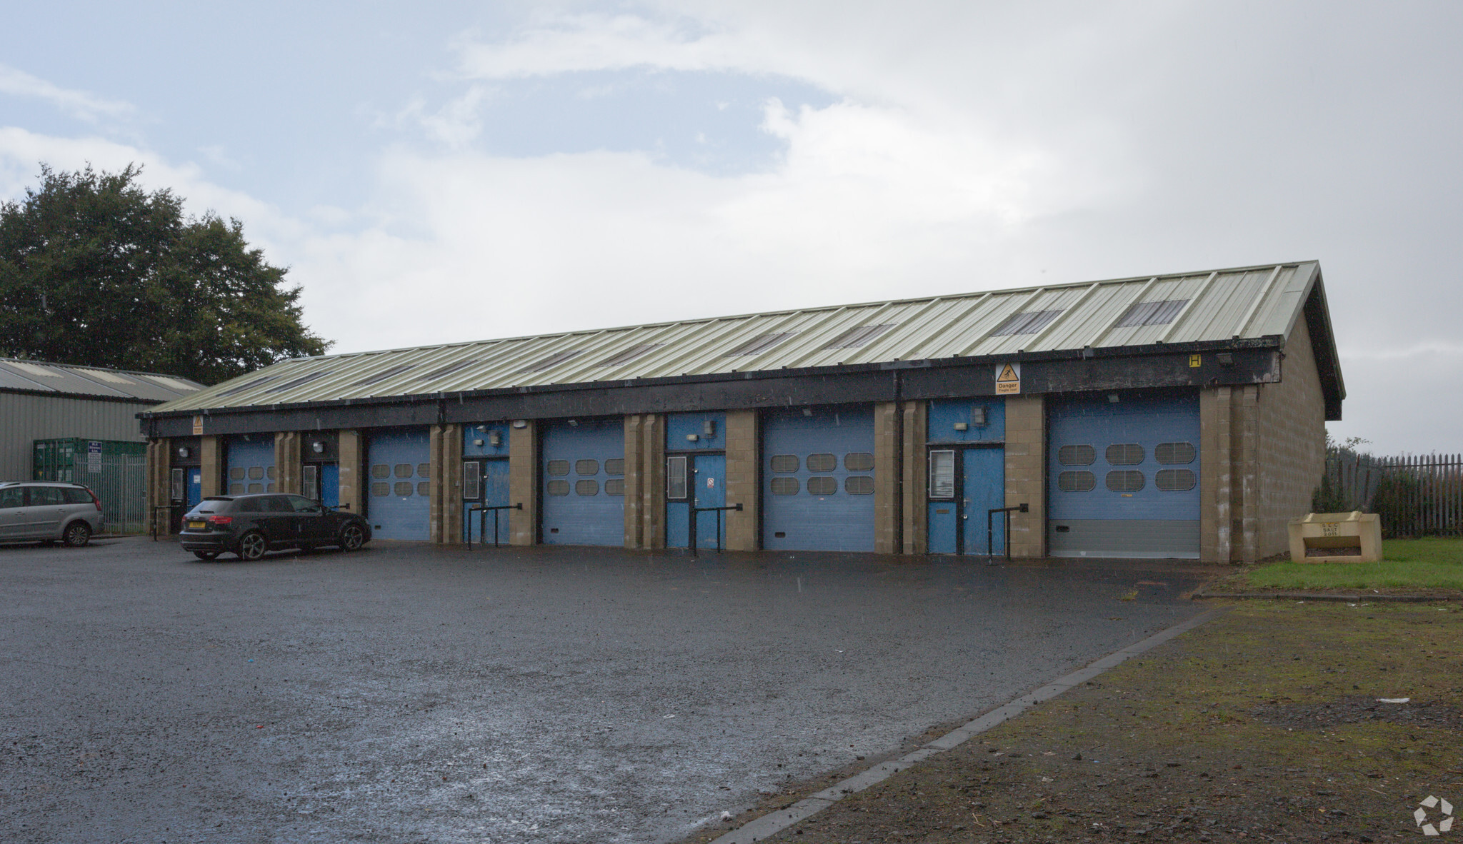
[[[550,546],[625,544],[625,423],[544,426],[541,540]]]

